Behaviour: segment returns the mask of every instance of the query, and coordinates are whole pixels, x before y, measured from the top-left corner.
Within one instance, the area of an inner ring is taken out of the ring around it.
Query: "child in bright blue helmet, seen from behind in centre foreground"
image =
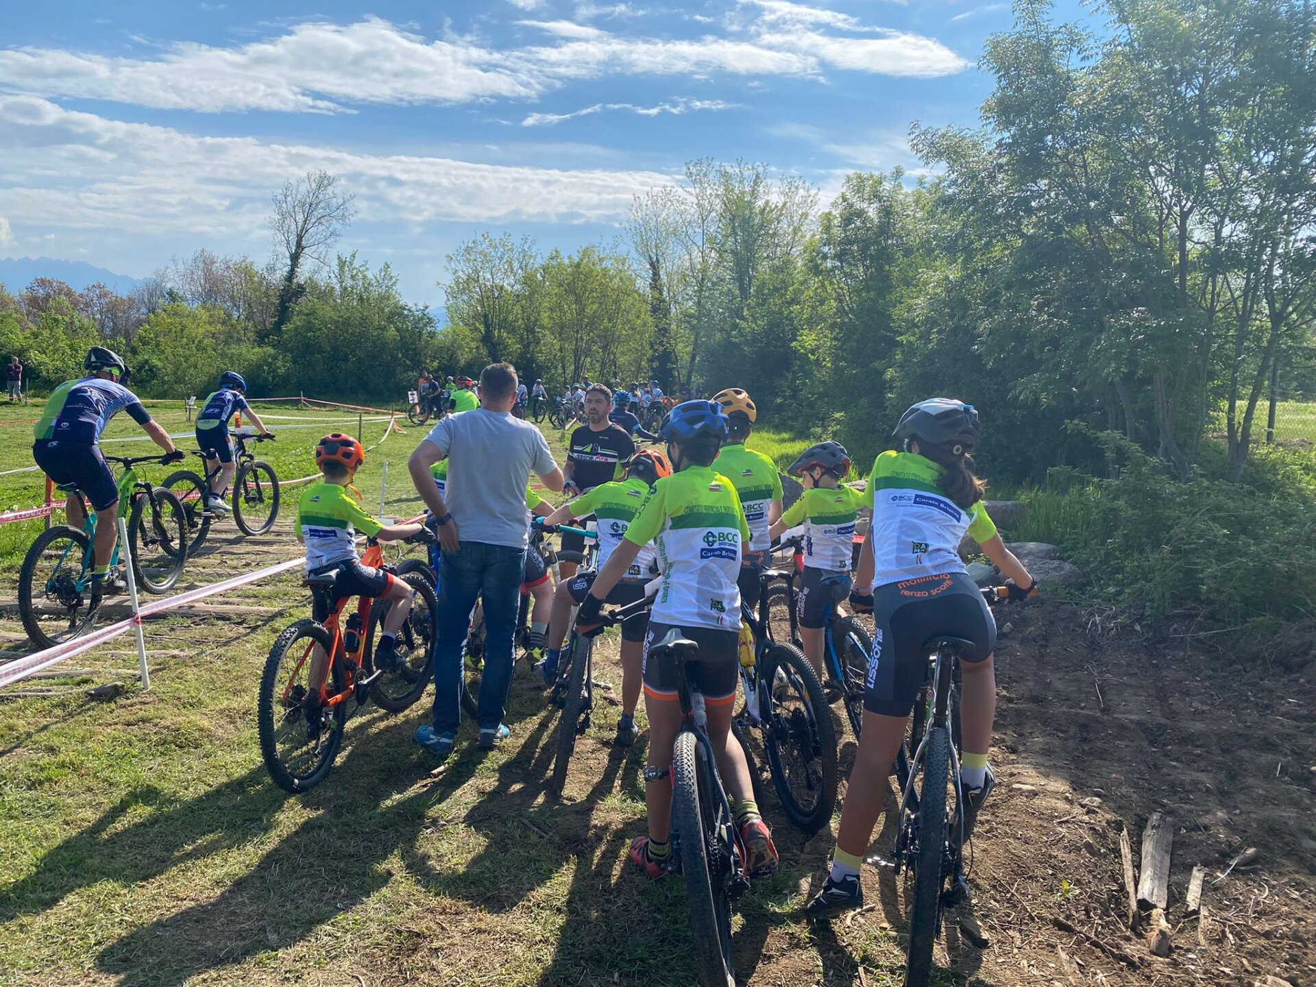
[[[754,803],[745,751],[730,732],[740,680],[737,578],[749,524],[736,487],[712,468],[726,440],[726,415],[715,401],[686,401],[667,413],[661,433],[675,472],[654,483],[576,612],[576,630],[594,630],[608,594],[629,571],[641,547],[654,544],[663,582],[645,636],[649,836],[630,845],[630,861],[649,878],[667,873],[671,851],[669,771],[680,728],[680,705],[671,663],[650,662],[647,655],[653,644],[672,630],[699,645],[697,658],[686,662],[686,676],[704,696],[708,736],[746,849],[746,867],[750,874],[769,874],[776,869],[776,848]]]

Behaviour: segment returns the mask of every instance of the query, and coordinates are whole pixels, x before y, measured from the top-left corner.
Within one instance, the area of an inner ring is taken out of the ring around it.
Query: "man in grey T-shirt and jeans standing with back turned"
[[[479,746],[490,750],[509,730],[503,724],[512,684],[516,613],[525,578],[529,513],[525,487],[534,472],[562,490],[562,470],[534,425],[512,415],[516,368],[491,363],[480,372],[478,408],[443,418],[412,453],[408,470],[434,515],[442,549],[438,574],[438,640],[434,647],[434,722],[416,742],[440,758],[453,753],[462,721],[462,641],[476,597],[484,599],[484,675]],[[430,466],[447,459],[438,492]]]

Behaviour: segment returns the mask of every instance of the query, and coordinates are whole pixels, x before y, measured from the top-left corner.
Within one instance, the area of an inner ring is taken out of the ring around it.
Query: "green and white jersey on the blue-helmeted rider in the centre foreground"
[[[691,466],[659,479],[625,538],[653,542],[658,551],[662,588],[651,620],[740,630],[736,580],[749,524],[736,487],[721,471]]]

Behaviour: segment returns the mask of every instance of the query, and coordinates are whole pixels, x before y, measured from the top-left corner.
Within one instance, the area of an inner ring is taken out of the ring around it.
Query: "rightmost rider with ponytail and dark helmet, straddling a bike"
[[[815,919],[863,904],[859,863],[924,678],[926,655],[920,649],[936,634],[974,642],[974,650],[961,655],[966,834],[991,792],[987,750],[996,712],[996,624],[959,558],[963,536],[973,536],[1009,576],[1012,599],[1037,592],[1032,575],[996,533],[983,507],[983,484],[969,470],[967,458],[979,438],[973,405],[948,397],[920,401],[901,416],[894,437],[903,451],[882,453],[869,476],[873,526],[859,553],[851,596],[859,608],[873,608],[869,688],[832,869],[807,908]]]

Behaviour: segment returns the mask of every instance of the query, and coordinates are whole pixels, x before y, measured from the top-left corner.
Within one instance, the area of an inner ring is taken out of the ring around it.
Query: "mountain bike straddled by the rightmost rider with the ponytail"
[[[1008,599],[1009,590],[986,588],[983,596],[995,603]],[[926,987],[944,912],[969,900],[965,792],[959,780],[959,655],[973,647],[973,641],[946,636],[924,642],[920,650],[928,655],[926,672],[915,700],[909,734],[896,755],[900,822],[892,863],[896,875],[904,871],[907,882],[908,987]],[[920,771],[923,784],[916,790]],[[948,792],[954,796],[953,803]]]

